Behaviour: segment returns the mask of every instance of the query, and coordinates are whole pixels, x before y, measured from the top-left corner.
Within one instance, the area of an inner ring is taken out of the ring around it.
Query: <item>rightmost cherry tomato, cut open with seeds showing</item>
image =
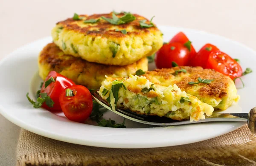
[[[221,51],[211,52],[207,62],[207,68],[214,69],[231,79],[242,75],[241,66],[226,53]]]

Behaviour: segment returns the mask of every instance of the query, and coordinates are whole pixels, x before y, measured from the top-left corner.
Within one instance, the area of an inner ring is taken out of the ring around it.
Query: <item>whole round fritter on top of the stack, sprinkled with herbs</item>
[[[117,14],[117,17],[124,16]],[[129,65],[150,56],[163,45],[161,31],[156,27],[141,28],[140,21],[146,20],[134,14],[136,20],[121,25],[113,25],[101,17],[112,18],[110,14],[80,15],[81,20],[67,20],[57,23],[52,29],[52,38],[66,54],[81,57],[89,62],[106,65]],[[84,23],[95,19],[96,23]],[[123,34],[121,30],[126,30]]]

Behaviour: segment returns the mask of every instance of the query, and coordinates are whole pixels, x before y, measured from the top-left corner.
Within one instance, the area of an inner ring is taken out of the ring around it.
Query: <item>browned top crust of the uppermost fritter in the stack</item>
[[[122,17],[124,14],[120,13],[117,14],[117,17]],[[119,30],[126,29],[128,27],[133,27],[134,31],[129,31],[127,34],[134,34],[139,35],[142,31],[144,33],[149,33],[151,30],[158,30],[156,26],[150,27],[150,28],[141,28],[140,27],[140,20],[147,20],[145,23],[150,24],[149,20],[145,17],[142,17],[138,14],[133,14],[136,17],[136,20],[121,24],[121,25],[112,25],[111,23],[108,23],[107,21],[101,19],[98,23],[95,24],[87,24],[86,27],[81,28],[77,23],[83,22],[84,20],[90,20],[90,19],[99,19],[102,16],[107,18],[112,18],[112,12],[109,14],[93,14],[93,15],[79,15],[79,17],[84,17],[83,20],[73,20],[73,18],[68,18],[67,20],[60,21],[57,23],[57,25],[62,26],[64,29],[77,31],[81,34],[87,35],[90,34],[91,36],[103,36],[103,37],[114,37],[114,38],[121,38],[125,37],[125,34],[122,34],[121,31],[115,31],[115,30],[108,30],[109,28],[112,28],[113,26],[117,26]],[[97,29],[97,31],[95,31]]]

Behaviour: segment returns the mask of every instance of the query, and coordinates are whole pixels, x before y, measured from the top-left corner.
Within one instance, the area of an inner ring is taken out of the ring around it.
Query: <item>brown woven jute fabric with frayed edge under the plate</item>
[[[198,143],[111,149],[65,143],[21,129],[17,166],[256,166],[256,135],[245,125]]]

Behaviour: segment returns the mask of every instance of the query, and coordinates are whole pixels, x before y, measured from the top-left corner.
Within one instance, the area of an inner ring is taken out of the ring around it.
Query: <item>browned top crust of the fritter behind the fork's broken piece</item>
[[[178,75],[175,76],[175,70],[180,70],[181,68],[185,69],[187,73],[178,73]],[[146,72],[143,76],[154,84],[162,84],[162,82],[170,80],[170,85],[176,84],[185,92],[189,92],[189,90],[193,91],[193,86],[200,86],[201,88],[198,90],[198,94],[201,97],[207,96],[222,98],[227,96],[228,85],[232,82],[228,76],[224,76],[215,70],[189,66],[155,69],[153,71]],[[156,77],[157,81],[155,79]],[[201,79],[214,79],[214,81],[210,84],[188,84],[188,82],[198,82],[198,77]],[[180,80],[177,81],[179,78]]]

